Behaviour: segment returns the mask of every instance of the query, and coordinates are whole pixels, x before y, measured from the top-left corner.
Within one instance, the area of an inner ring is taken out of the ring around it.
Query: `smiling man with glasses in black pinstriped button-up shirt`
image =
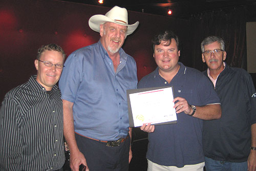
[[[62,170],[63,108],[55,85],[66,54],[55,44],[38,49],[37,75],[9,91],[0,109],[0,170]]]

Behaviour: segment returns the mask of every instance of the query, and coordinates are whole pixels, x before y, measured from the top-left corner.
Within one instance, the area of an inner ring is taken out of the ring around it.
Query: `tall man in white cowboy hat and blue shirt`
[[[74,171],[80,164],[87,171],[128,170],[132,151],[126,90],[136,88],[137,69],[121,47],[138,25],[129,25],[127,10],[117,6],[92,16],[89,26],[100,33],[100,40],[65,62],[59,87]]]

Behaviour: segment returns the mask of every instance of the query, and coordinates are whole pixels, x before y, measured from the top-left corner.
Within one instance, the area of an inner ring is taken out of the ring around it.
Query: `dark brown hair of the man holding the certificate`
[[[169,41],[169,43],[165,45],[165,46],[169,46],[172,42],[172,38],[175,39],[175,41],[177,43],[177,48],[179,50],[179,38],[178,38],[178,36],[170,30],[165,30],[165,31],[160,32],[159,34],[155,35],[154,38],[152,39],[153,51],[155,50],[155,45],[160,45],[161,41]]]

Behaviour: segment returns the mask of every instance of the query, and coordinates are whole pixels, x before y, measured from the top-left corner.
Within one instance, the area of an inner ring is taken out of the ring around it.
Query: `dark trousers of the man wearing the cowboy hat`
[[[80,152],[86,157],[90,171],[128,171],[130,137],[119,146],[106,146],[106,143],[75,134]]]

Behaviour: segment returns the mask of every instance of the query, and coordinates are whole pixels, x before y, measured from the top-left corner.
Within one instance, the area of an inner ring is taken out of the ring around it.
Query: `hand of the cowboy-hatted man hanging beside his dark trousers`
[[[86,171],[89,171],[89,167],[86,162],[86,158],[84,158],[81,152],[70,153],[70,168],[72,171],[79,171],[79,165],[83,164],[86,166]]]

